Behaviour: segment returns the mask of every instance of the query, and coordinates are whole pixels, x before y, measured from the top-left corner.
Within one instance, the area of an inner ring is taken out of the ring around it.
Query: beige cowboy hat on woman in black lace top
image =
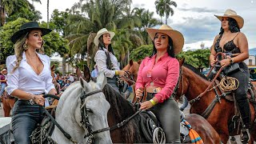
[[[222,21],[222,18],[223,18],[223,17],[226,17],[226,18],[234,18],[234,20],[238,22],[239,28],[242,29],[244,20],[243,20],[243,18],[242,18],[240,15],[238,15],[234,10],[227,9],[227,10],[225,11],[224,15],[214,15],[214,16],[217,17],[220,21]]]

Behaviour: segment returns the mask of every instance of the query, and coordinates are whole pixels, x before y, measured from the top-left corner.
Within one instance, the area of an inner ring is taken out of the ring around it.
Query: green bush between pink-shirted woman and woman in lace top
[[[200,50],[188,50],[186,52],[182,52],[176,56],[176,58],[185,58],[186,63],[202,70],[203,68],[209,67],[209,57],[210,50],[209,49],[200,49]]]

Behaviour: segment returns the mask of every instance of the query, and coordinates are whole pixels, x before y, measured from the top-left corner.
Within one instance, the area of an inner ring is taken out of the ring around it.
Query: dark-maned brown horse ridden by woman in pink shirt
[[[110,85],[106,84],[103,89],[106,100],[110,103],[110,110],[108,112],[109,126],[115,126],[118,122],[122,122],[126,118],[135,114],[136,110],[125,98],[115,91]],[[176,116],[177,117],[177,116]],[[186,115],[186,121],[194,130],[198,132],[203,142],[205,143],[221,143],[221,139],[206,119],[198,114]],[[142,130],[140,128],[139,117],[134,117],[124,126],[111,130],[111,139],[113,143],[148,143]]]

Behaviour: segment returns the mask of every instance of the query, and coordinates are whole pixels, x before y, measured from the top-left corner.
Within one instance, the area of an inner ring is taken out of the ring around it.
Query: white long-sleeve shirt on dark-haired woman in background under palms
[[[94,62],[96,62],[98,73],[103,72],[106,77],[113,78],[114,77],[114,70],[120,70],[118,66],[118,59],[114,56],[114,54],[110,53],[110,59],[113,63],[114,70],[107,69],[106,66],[106,49],[103,48],[103,50],[98,50],[94,57]]]

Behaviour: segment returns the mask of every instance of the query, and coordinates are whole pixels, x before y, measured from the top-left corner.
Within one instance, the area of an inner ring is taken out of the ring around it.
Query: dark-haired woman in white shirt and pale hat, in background
[[[103,72],[106,75],[107,83],[119,92],[117,76],[123,75],[124,71],[119,69],[118,59],[114,56],[111,46],[113,37],[114,32],[108,31],[106,28],[98,30],[94,38],[94,44],[98,46],[94,62],[96,62],[98,73]]]

